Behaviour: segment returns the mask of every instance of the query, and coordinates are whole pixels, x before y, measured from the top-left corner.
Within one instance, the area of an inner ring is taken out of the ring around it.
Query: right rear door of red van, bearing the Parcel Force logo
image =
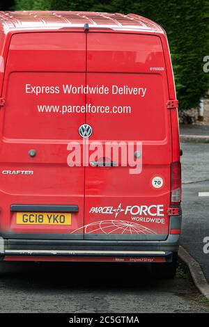
[[[93,128],[89,142],[102,143],[104,150],[107,141],[116,141],[114,146],[122,141],[123,147],[138,141],[130,159],[139,163],[139,173],[130,173],[131,160],[121,166],[120,156],[107,156],[105,150],[86,167],[84,238],[166,239],[171,122],[160,37],[90,31],[86,83],[107,87],[106,93],[86,98],[93,107],[86,113]]]

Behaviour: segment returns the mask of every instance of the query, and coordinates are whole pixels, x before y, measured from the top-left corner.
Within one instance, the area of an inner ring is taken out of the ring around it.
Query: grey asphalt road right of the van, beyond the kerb
[[[181,244],[201,264],[209,282],[209,253],[203,239],[209,237],[209,144],[183,143],[183,234]],[[208,246],[209,248],[209,246]]]

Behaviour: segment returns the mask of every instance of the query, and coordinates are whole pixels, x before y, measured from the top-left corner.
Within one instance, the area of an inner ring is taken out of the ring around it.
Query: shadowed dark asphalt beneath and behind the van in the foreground
[[[0,289],[0,312],[209,312],[188,278],[146,264],[3,263]]]

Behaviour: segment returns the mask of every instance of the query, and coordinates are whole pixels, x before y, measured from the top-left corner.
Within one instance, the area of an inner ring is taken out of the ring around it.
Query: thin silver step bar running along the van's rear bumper
[[[130,251],[130,250],[4,250],[8,256],[67,256],[67,257],[167,257],[165,251]]]

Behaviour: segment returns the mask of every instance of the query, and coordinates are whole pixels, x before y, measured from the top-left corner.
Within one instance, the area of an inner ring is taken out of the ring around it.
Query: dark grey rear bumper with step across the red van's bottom
[[[1,260],[171,262],[180,235],[165,241],[1,239]]]

